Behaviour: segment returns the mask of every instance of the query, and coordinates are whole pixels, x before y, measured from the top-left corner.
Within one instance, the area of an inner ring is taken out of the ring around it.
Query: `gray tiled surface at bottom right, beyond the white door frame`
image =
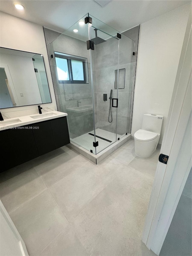
[[[190,256],[191,251],[191,170],[177,205],[160,256]]]

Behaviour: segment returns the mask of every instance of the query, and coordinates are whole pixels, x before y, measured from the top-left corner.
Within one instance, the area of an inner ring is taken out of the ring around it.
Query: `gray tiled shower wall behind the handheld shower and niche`
[[[117,97],[117,89],[114,89],[114,81],[115,70],[118,67],[118,40],[110,38],[107,42],[95,46],[96,88],[94,92],[95,98],[97,98],[97,108],[95,108],[95,112],[97,113],[96,128],[116,133],[116,119],[118,119],[117,133],[120,135],[126,132],[131,133],[137,59],[137,53],[135,56],[132,53],[134,51],[136,52],[138,36],[139,26],[131,29],[130,32],[129,30],[124,32],[122,38],[119,40],[119,68],[125,68],[125,89],[119,89],[118,118],[117,109],[112,108],[112,123],[108,122],[109,97],[111,89],[113,90],[113,98]],[[130,38],[137,40],[137,42],[135,43]],[[107,93],[107,101],[103,101],[104,93]]]

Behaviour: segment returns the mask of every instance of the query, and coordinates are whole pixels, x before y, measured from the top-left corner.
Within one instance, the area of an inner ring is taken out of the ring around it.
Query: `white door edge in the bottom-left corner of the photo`
[[[29,256],[25,243],[0,200],[0,255]]]

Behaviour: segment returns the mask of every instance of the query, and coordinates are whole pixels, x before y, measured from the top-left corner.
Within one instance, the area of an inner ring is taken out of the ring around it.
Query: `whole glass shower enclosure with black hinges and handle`
[[[49,44],[70,141],[98,154],[131,133],[135,41],[86,14]]]

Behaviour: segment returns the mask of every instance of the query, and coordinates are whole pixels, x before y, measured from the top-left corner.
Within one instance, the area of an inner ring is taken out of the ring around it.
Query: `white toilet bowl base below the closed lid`
[[[159,142],[160,134],[155,140],[151,141],[139,141],[134,138],[135,142],[135,154],[142,158],[147,158],[153,154],[157,148]]]

